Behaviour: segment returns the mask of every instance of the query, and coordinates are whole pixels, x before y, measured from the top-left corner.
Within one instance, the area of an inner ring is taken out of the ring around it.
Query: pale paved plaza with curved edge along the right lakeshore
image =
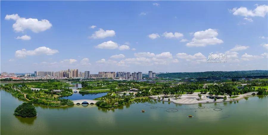
[[[194,92],[192,94],[183,94],[180,98],[174,98],[172,95],[156,95],[156,96],[149,96],[150,99],[156,99],[160,101],[167,101],[167,102],[173,102],[175,104],[199,104],[199,103],[219,103],[219,102],[228,102],[228,101],[237,101],[245,96],[249,95],[255,95],[258,92],[249,92],[241,95],[237,95],[236,98],[231,98],[230,96],[226,96],[227,99],[224,100],[224,96],[219,96],[219,95],[208,95],[206,94],[201,94],[200,92]],[[201,98],[199,98],[198,94],[201,94]],[[164,98],[162,97],[169,97],[169,98]],[[158,98],[160,97],[160,99]],[[212,98],[212,99],[210,99]],[[216,101],[214,100],[216,98]]]

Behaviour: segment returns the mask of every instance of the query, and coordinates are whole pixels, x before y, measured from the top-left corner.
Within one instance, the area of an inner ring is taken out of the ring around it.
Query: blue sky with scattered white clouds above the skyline
[[[267,5],[1,1],[1,72],[267,70]],[[211,52],[227,62],[207,63]]]

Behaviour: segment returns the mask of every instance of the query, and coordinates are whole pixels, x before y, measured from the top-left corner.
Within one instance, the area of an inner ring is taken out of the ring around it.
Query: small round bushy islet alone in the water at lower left
[[[32,102],[22,103],[15,109],[14,115],[28,118],[35,117],[37,115],[37,111],[32,105]]]

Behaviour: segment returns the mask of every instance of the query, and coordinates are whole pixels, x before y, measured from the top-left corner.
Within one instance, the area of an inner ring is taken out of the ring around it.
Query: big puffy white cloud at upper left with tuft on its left
[[[38,33],[41,31],[46,31],[52,27],[52,24],[49,20],[42,19],[38,20],[35,18],[22,18],[18,14],[6,15],[5,20],[15,20],[13,24],[13,29],[16,32],[23,32],[25,29],[30,29],[31,31]]]

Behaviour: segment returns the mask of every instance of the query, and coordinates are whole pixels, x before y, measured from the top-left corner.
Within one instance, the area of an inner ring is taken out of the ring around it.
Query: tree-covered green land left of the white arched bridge
[[[40,90],[32,90],[32,86],[36,86],[40,88]],[[72,95],[72,90],[65,88],[65,86],[69,86],[69,84],[64,82],[49,81],[5,84],[1,85],[1,89],[8,90],[13,96],[18,97],[19,99],[32,101],[32,103],[35,104],[42,104],[51,107],[60,107],[74,104],[73,101],[69,99],[60,99],[61,96]],[[57,93],[53,90],[60,90],[60,92]]]

